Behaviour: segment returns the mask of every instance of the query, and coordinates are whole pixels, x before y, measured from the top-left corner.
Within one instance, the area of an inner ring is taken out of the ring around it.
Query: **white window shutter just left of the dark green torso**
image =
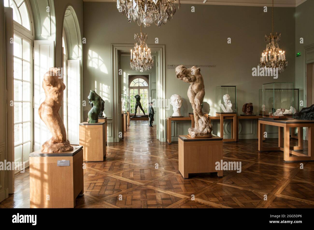
[[[70,144],[79,144],[80,123],[80,60],[68,60],[68,139]]]

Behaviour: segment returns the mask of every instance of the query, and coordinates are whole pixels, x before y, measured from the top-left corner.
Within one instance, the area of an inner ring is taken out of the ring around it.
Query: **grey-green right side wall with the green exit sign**
[[[300,38],[304,44],[300,44]],[[295,8],[295,85],[300,88],[300,99],[304,101],[304,46],[314,44],[314,0],[307,0]],[[301,56],[296,56],[300,52]],[[302,107],[300,107],[300,110]]]

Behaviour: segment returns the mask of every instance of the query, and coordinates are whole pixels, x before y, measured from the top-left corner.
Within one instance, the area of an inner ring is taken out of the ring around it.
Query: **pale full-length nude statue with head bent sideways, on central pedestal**
[[[187,90],[187,96],[192,104],[195,119],[195,128],[189,128],[190,136],[211,137],[213,126],[203,114],[201,107],[205,95],[205,87],[203,77],[200,73],[200,68],[193,66],[192,68],[187,69],[183,65],[177,66],[176,78],[190,83],[190,87]]]

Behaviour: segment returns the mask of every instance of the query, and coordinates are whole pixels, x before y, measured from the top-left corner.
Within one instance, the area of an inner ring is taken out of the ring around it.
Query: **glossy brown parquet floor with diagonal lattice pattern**
[[[276,146],[278,140],[265,143]],[[241,173],[183,179],[178,171],[178,143],[156,140],[156,128],[150,128],[148,121],[131,121],[124,140],[108,143],[104,162],[86,164],[84,196],[76,199],[76,207],[313,208],[314,162],[304,162],[300,169],[300,163],[284,163],[283,152],[258,152],[257,144],[255,139],[223,144],[224,161],[241,161]],[[16,176],[15,189],[1,208],[29,207],[28,172]]]

